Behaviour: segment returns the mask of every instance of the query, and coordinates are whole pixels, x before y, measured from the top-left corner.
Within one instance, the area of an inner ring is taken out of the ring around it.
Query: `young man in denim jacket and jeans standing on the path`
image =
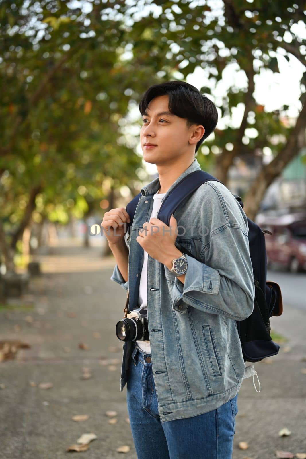
[[[148,308],[150,340],[124,343],[120,381],[137,456],[230,459],[245,375],[235,321],[252,313],[255,294],[247,218],[223,184],[209,181],[169,227],[157,219],[163,198],[200,170],[195,152],[217,110],[194,86],[169,81],[151,86],[139,111],[144,160],[158,178],[141,189],[127,241],[123,207],[102,222],[117,262],[111,280],[129,290],[129,311]]]

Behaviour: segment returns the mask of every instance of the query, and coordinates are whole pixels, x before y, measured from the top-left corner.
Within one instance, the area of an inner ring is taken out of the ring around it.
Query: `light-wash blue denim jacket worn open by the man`
[[[183,177],[200,169],[195,159],[166,196]],[[128,281],[117,264],[111,275],[111,280],[129,289],[130,311],[139,307],[144,254],[136,237],[150,219],[153,195],[159,188],[156,178],[141,189],[131,234],[126,238]],[[180,226],[176,246],[193,255],[186,255],[184,284],[148,256],[148,324],[161,422],[206,413],[239,392],[245,362],[235,321],[250,316],[255,295],[247,218],[222,183],[200,185],[177,208],[174,218]],[[127,383],[133,345],[123,344],[121,392]]]

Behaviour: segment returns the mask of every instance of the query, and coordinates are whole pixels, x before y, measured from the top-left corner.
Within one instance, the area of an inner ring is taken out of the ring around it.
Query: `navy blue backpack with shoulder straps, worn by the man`
[[[202,170],[188,174],[166,196],[161,204],[157,218],[169,226],[171,215],[175,212],[179,204],[197,190],[200,185],[209,180],[220,182],[220,180]],[[126,211],[131,219],[131,222],[128,224],[129,233],[140,196],[142,196],[141,193],[135,196],[126,207]],[[233,196],[237,199],[240,206],[243,207],[240,196]],[[272,340],[270,335],[271,326],[269,319],[271,316],[280,316],[283,313],[283,302],[279,285],[275,282],[267,281],[267,253],[264,233],[271,233],[261,230],[249,218],[248,225],[250,258],[255,284],[254,309],[247,319],[236,320],[236,324],[245,362],[260,362],[263,358],[276,355],[279,351],[279,345]],[[179,246],[178,243],[176,245]],[[194,257],[184,247],[178,248],[190,257]]]

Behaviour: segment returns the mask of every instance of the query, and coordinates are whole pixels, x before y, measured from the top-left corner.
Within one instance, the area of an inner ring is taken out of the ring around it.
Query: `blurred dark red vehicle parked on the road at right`
[[[292,213],[279,217],[258,215],[256,223],[265,234],[267,262],[284,266],[296,273],[306,270],[306,214]]]

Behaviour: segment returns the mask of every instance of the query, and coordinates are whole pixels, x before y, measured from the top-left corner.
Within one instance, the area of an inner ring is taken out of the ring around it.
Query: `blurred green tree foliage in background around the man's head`
[[[254,78],[263,68],[278,72],[280,54],[305,65],[294,28],[304,20],[298,0],[0,1],[0,218],[7,233],[17,231],[33,189],[37,222],[82,218],[122,185],[133,194],[145,175],[135,154],[140,121],[129,119],[129,109],[151,84],[186,79],[198,66],[207,77],[200,90],[225,125],[199,151],[201,167],[217,160],[224,179],[234,157],[260,155],[263,147],[276,157],[294,129],[289,107],[258,105]],[[246,84],[233,78],[217,97],[228,66],[244,71]],[[301,103],[305,83],[306,73]],[[245,114],[236,127],[239,104]]]

